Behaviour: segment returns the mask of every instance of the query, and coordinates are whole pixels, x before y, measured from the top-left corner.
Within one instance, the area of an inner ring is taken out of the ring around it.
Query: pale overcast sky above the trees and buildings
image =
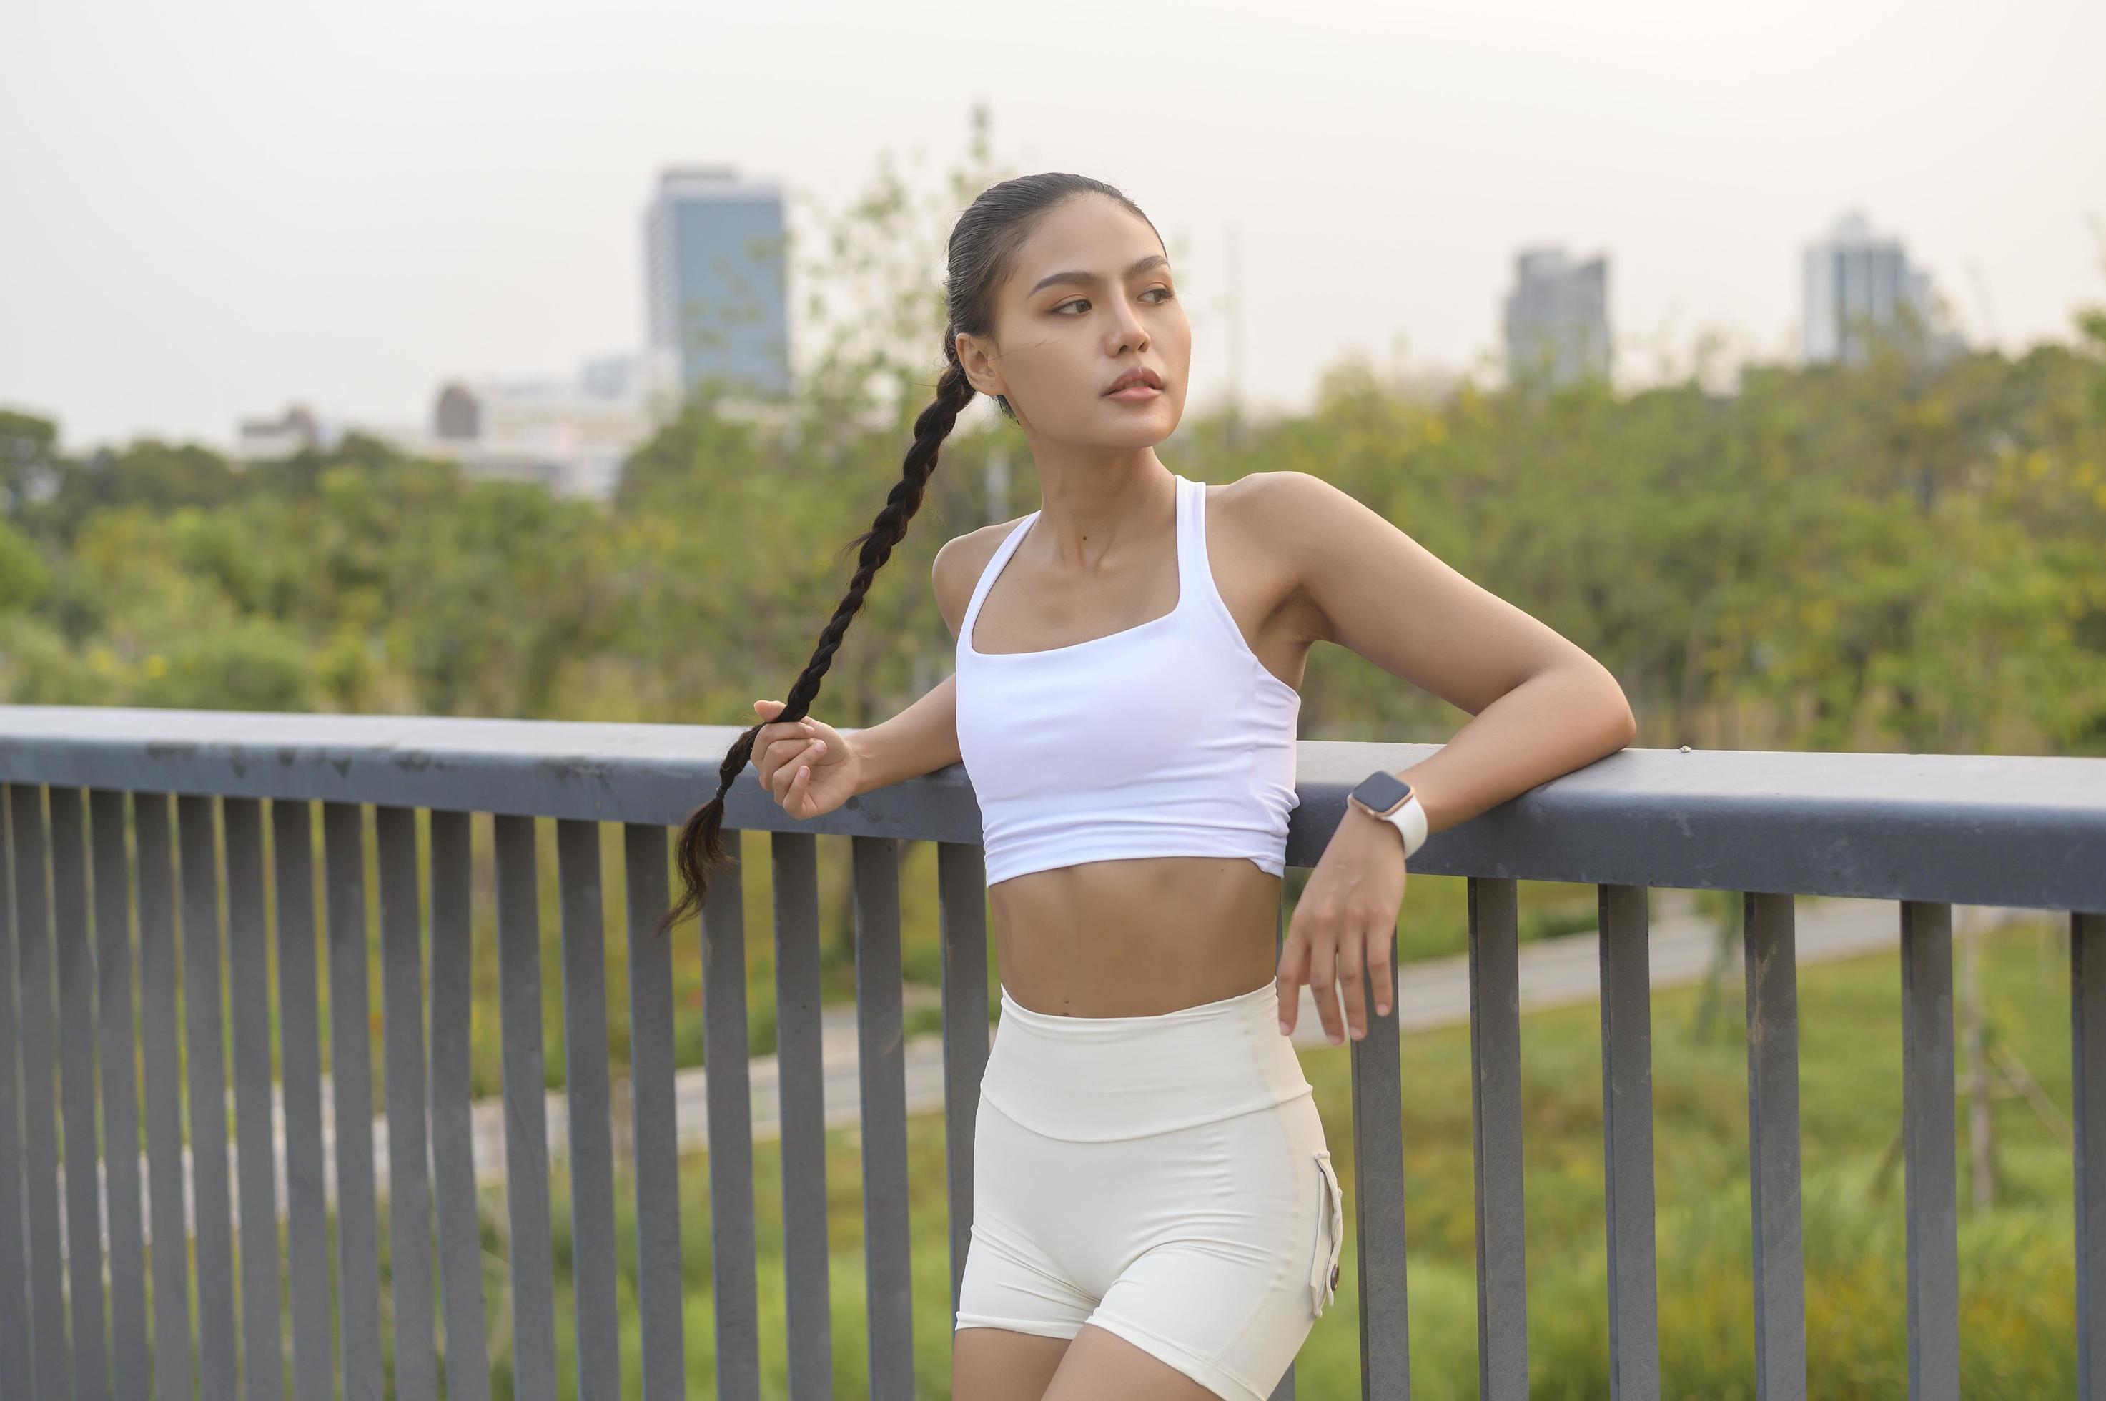
[[[1491,352],[1525,242],[1609,253],[1620,369],[1702,329],[1784,356],[1849,206],[2020,348],[2106,301],[2102,55],[2100,0],[6,0],[0,404],[72,449],[293,398],[421,421],[446,377],[640,343],[659,166],[836,209],[882,150],[948,164],[977,99],[1002,160],[1181,242],[1194,404],[1232,223],[1274,404],[1398,337]]]

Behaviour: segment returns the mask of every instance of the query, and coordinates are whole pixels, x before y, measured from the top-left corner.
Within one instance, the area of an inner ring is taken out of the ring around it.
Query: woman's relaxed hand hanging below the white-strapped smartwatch
[[[1337,988],[1346,988],[1346,1026],[1352,1039],[1367,1034],[1367,992],[1375,988],[1375,1015],[1388,1015],[1396,992],[1390,948],[1396,942],[1396,912],[1405,904],[1403,834],[1382,817],[1346,805],[1331,845],[1310,872],[1295,916],[1280,946],[1280,1034],[1295,1030],[1302,984],[1316,999],[1331,1045],[1344,1041]]]

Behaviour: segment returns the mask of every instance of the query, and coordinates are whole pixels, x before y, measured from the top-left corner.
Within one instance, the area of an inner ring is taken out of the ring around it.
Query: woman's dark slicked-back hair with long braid
[[[885,510],[878,512],[868,531],[847,546],[861,548],[855,575],[849,579],[849,592],[840,598],[840,607],[834,609],[834,617],[819,632],[819,645],[813,649],[811,662],[804,664],[804,672],[796,678],[796,685],[783,697],[781,712],[771,721],[762,721],[762,725],[796,723],[811,714],[811,702],[819,695],[819,680],[834,664],[834,651],[840,647],[849,621],[863,607],[870,579],[891,558],[893,546],[906,537],[908,522],[920,510],[943,438],[950,436],[958,415],[965,413],[979,392],[965,377],[965,364],[958,362],[958,337],[994,337],[994,293],[1000,289],[1002,278],[1009,276],[1009,263],[1017,249],[1047,213],[1066,200],[1089,194],[1118,200],[1148,223],[1148,228],[1154,228],[1148,215],[1116,188],[1087,175],[1061,173],[1005,179],[998,185],[981,190],[979,198],[958,215],[946,255],[943,305],[950,322],[943,327],[943,377],[937,379],[935,402],[914,419],[914,445],[908,447],[906,468],[885,499]],[[1160,238],[1160,232],[1156,238]],[[996,394],[994,402],[1005,417],[1017,417],[1005,396]],[[746,771],[758,735],[760,725],[739,735],[731,752],[724,754],[724,765],[718,769],[716,796],[689,813],[680,826],[678,866],[687,889],[674,908],[659,919],[659,933],[699,910],[710,887],[710,868],[731,862],[731,853],[722,841],[724,794],[731,792],[731,784]]]

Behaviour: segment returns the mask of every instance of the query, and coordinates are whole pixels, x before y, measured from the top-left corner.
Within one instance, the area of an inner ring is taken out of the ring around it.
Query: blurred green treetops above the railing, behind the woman
[[[0,413],[0,699],[746,725],[811,655],[941,369],[950,219],[1007,175],[986,112],[920,192],[880,164],[821,215],[809,369],[781,413],[697,394],[611,501],[347,436],[238,466],[82,457]],[[796,255],[796,249],[794,249]],[[1857,367],[1508,390],[1348,356],[1308,413],[1192,411],[1179,472],[1323,476],[1601,657],[1638,744],[2106,752],[2106,310],[2068,343]],[[986,409],[988,404],[981,404]],[[815,706],[882,721],[950,670],[935,550],[1021,434],[967,415]],[[1017,474],[1021,478],[1021,472]],[[1350,651],[1310,657],[1308,737],[1466,716]]]

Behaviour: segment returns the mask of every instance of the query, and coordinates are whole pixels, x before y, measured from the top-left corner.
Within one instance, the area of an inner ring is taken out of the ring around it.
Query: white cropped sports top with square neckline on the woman
[[[958,750],[988,885],[1053,866],[1240,855],[1287,866],[1302,693],[1251,651],[1207,563],[1207,485],[1177,476],[1177,607],[1135,628],[984,653],[973,624],[1038,520],[994,550],[958,628]]]

